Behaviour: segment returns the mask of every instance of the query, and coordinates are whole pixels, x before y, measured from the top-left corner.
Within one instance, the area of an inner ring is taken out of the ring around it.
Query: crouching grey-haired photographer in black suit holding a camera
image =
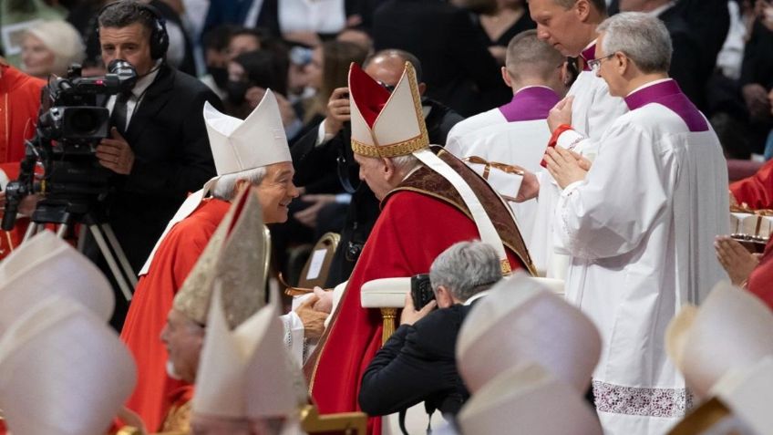
[[[439,254],[429,269],[437,303],[417,310],[406,296],[400,326],[363,376],[360,408],[387,415],[425,401],[430,414],[439,409],[456,415],[469,398],[456,366],[459,327],[473,302],[501,277],[499,257],[487,243],[459,242]]]

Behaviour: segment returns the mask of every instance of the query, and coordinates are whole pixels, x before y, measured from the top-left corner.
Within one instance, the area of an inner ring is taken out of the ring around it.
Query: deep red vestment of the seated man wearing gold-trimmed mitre
[[[360,306],[360,287],[371,280],[428,273],[453,243],[479,239],[475,223],[459,209],[426,194],[392,193],[349,279],[335,321],[319,351],[310,379],[322,414],[359,410],[363,373],[381,347],[381,315]],[[522,267],[508,249],[513,269]],[[381,419],[368,419],[368,433],[381,433]]]

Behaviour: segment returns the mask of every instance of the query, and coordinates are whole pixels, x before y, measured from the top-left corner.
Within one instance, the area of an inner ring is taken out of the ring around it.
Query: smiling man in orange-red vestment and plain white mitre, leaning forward
[[[168,375],[167,350],[159,337],[174,296],[228,212],[231,199],[250,184],[256,185],[264,222],[277,223],[287,219],[287,205],[298,196],[290,149],[271,90],[243,121],[209,103],[204,105],[204,120],[218,176],[189,196],[161,235],[140,272],[121,331],[139,371],[127,406],[149,430],[160,429],[172,406],[185,405],[187,399],[179,398],[192,396],[191,384]],[[208,194],[213,197],[205,199]]]

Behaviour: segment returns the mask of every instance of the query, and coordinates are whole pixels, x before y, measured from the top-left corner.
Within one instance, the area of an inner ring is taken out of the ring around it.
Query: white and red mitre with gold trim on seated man
[[[397,157],[429,147],[416,71],[406,62],[390,94],[356,64],[349,67],[352,150],[367,157]]]

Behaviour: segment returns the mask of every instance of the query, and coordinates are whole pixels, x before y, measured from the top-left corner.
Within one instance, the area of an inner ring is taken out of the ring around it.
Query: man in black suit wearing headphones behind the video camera
[[[199,80],[166,64],[169,37],[152,7],[136,0],[108,5],[98,30],[105,65],[123,59],[138,75],[128,94],[108,99],[113,128],[97,147],[99,164],[113,172],[107,222],[138,272],[188,192],[215,175],[201,110],[205,101],[222,104]],[[100,261],[94,243],[87,252]],[[120,328],[126,304],[117,299],[124,304],[112,323]]]

